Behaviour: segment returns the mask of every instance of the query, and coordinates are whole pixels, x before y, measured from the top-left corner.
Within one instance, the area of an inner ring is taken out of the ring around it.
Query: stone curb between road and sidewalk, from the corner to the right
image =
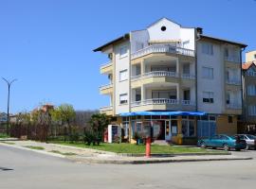
[[[213,162],[213,161],[237,161],[237,160],[252,160],[251,157],[248,158],[205,158],[205,159],[187,159],[187,160],[96,160],[96,159],[87,159],[87,160],[76,160],[69,159],[76,163],[109,163],[109,164],[146,164],[146,163],[186,163],[186,162]]]

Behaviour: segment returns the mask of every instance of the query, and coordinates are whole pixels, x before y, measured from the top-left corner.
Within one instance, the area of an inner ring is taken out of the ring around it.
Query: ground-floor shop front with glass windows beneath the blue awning
[[[214,134],[237,133],[237,115],[137,115],[118,116],[109,126],[109,142],[119,135],[124,142],[136,143],[137,135],[145,136],[147,127],[155,140],[177,145],[196,145],[199,138]]]

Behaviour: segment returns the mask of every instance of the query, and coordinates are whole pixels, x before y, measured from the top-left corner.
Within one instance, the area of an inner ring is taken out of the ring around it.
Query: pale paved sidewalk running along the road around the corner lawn
[[[250,157],[238,157],[234,155],[175,155],[170,157],[130,157],[120,156],[114,152],[106,152],[96,149],[75,147],[75,146],[63,146],[55,144],[46,144],[34,141],[12,141],[2,142],[0,145],[17,147],[27,150],[44,153],[47,155],[66,158],[76,163],[181,163],[181,162],[202,162],[202,161],[230,161],[230,160],[251,160]],[[43,147],[43,149],[31,149],[26,146]]]

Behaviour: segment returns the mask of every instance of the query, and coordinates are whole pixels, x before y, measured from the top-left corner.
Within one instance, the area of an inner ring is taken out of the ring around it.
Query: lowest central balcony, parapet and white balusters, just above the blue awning
[[[153,98],[131,103],[132,111],[194,111],[195,103],[191,100]]]

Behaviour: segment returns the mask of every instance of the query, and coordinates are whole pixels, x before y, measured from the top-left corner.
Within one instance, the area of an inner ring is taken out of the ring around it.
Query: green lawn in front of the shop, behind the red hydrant
[[[111,151],[116,153],[132,153],[132,154],[140,154],[145,153],[145,146],[143,145],[133,145],[133,144],[101,144],[100,146],[86,146],[83,143],[64,143],[64,142],[52,142],[54,144],[60,144],[65,146],[78,146],[78,147],[86,147],[92,149],[99,149],[103,151]],[[211,151],[206,149],[201,149],[197,147],[182,147],[182,146],[158,146],[152,145],[151,152],[153,154],[173,154],[173,153],[210,153]],[[214,152],[214,151],[213,151]],[[217,151],[220,153],[220,151]],[[212,153],[212,152],[211,152]],[[221,152],[222,153],[222,152]],[[223,152],[227,153],[227,152]]]

